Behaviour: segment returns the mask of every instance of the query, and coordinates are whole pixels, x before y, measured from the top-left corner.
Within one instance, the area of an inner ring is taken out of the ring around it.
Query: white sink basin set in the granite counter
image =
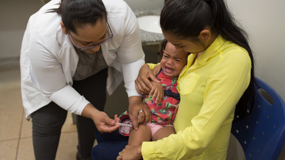
[[[160,16],[142,16],[138,17],[139,26],[142,30],[153,32],[153,33],[162,33],[161,28],[159,26],[159,18]]]

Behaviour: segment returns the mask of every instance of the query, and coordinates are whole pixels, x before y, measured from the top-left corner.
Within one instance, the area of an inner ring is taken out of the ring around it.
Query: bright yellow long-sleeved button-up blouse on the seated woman
[[[251,59],[244,48],[221,35],[190,67],[195,56],[188,56],[178,79],[176,134],[143,142],[144,160],[226,159],[235,105],[249,85]]]

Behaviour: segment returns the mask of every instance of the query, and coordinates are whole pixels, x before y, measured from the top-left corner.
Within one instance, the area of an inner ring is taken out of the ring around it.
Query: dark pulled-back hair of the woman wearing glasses
[[[61,16],[66,29],[76,32],[76,28],[95,25],[98,20],[107,20],[107,11],[102,0],[62,0],[58,8],[46,13],[56,12]]]

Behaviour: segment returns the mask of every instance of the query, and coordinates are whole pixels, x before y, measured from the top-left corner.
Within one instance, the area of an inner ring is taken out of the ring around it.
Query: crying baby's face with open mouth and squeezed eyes
[[[178,77],[184,66],[187,64],[189,52],[184,50],[177,51],[175,46],[167,42],[163,56],[160,61],[160,67],[168,77]]]

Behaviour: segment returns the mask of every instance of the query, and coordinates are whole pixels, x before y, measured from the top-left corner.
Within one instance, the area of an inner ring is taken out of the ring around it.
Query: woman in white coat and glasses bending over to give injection
[[[21,48],[21,92],[32,118],[36,159],[55,159],[67,112],[77,114],[76,159],[91,159],[96,128],[119,125],[103,112],[107,92],[124,80],[130,106],[141,95],[140,30],[122,0],[52,0],[28,20]]]

